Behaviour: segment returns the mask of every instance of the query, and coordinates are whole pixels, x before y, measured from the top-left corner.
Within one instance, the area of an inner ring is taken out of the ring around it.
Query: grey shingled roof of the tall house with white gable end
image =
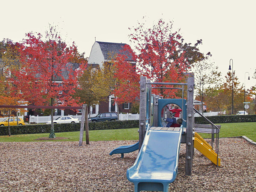
[[[126,43],[96,42],[100,45],[104,59],[113,59],[118,54],[124,54],[127,56],[128,61],[134,61],[128,51],[123,51],[124,46],[127,45]]]

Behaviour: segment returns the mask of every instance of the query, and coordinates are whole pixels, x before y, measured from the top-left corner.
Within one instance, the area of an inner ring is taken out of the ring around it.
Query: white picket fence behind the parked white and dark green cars
[[[97,114],[91,114],[91,117],[95,117]],[[81,115],[68,115],[73,118],[78,119],[81,122]],[[58,117],[61,116],[53,116],[53,119],[57,119]],[[89,118],[89,115],[88,115]],[[35,122],[35,123],[46,123],[47,121],[51,120],[51,116],[30,116],[30,123]],[[124,121],[124,120],[137,120],[139,119],[139,114],[119,114],[119,120]]]

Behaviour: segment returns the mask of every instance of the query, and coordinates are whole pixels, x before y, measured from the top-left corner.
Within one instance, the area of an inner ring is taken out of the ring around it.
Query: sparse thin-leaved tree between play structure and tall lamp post
[[[221,73],[218,72],[218,66],[215,66],[214,63],[209,62],[209,60],[197,62],[194,64],[192,71],[194,72],[196,84],[195,93],[199,96],[203,109],[203,100],[206,96],[206,92],[211,86],[221,83]]]

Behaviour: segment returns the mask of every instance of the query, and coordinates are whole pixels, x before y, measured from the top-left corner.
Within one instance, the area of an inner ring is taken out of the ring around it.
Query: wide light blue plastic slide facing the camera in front
[[[168,192],[176,178],[180,151],[180,131],[148,129],[134,165],[127,170],[127,179],[134,183],[135,192]]]

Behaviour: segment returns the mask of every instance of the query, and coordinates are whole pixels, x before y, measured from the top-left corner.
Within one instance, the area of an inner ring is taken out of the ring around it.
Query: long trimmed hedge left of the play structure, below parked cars
[[[81,123],[54,124],[54,132],[71,132],[80,131]],[[24,126],[10,126],[12,135],[34,134],[34,133],[50,133],[50,124],[29,124]],[[106,121],[106,122],[90,122],[89,130],[100,129],[127,129],[139,127],[139,120],[130,121]],[[9,135],[8,126],[0,127],[0,135]]]

